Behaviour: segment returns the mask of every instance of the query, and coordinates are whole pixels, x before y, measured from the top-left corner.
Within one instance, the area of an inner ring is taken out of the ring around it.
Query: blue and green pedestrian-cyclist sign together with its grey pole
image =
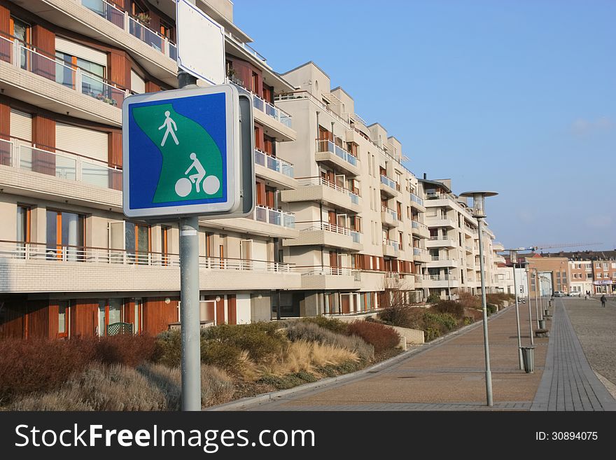
[[[234,85],[189,85],[122,109],[124,214],[179,221],[182,410],[201,410],[198,217],[254,210],[252,99]]]

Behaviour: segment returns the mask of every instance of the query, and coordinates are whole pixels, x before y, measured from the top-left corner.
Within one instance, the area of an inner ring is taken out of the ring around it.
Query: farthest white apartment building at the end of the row
[[[479,233],[477,219],[464,198],[451,192],[451,179],[419,179],[425,193],[425,222],[429,237],[426,242],[429,261],[422,267],[426,295],[441,298],[461,291],[481,292]],[[493,248],[495,236],[486,221],[483,225],[484,275],[488,292],[500,291],[495,279],[498,263],[504,259]]]

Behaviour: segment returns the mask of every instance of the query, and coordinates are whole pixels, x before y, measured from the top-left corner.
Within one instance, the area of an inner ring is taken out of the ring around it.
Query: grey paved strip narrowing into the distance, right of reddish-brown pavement
[[[556,300],[550,335],[543,377],[531,410],[616,410],[616,401],[588,363],[561,299]]]

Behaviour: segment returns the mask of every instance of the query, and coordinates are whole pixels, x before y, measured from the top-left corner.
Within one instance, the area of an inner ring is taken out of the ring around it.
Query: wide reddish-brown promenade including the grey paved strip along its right
[[[528,305],[519,310],[522,346],[528,346]],[[531,311],[534,320],[534,305]],[[547,321],[549,339],[534,339],[535,372],[527,374],[519,369],[515,307],[491,317],[493,407],[486,406],[479,321],[393,365],[345,382],[286,392],[262,405],[231,405],[230,410],[616,410],[590,369],[561,302],[552,320]]]

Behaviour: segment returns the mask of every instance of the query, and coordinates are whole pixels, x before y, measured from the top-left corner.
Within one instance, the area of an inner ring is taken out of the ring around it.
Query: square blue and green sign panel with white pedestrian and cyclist
[[[253,209],[251,104],[234,85],[127,97],[123,209],[128,217],[239,216]],[[252,182],[252,185],[251,185]],[[247,201],[247,202],[245,202]]]

